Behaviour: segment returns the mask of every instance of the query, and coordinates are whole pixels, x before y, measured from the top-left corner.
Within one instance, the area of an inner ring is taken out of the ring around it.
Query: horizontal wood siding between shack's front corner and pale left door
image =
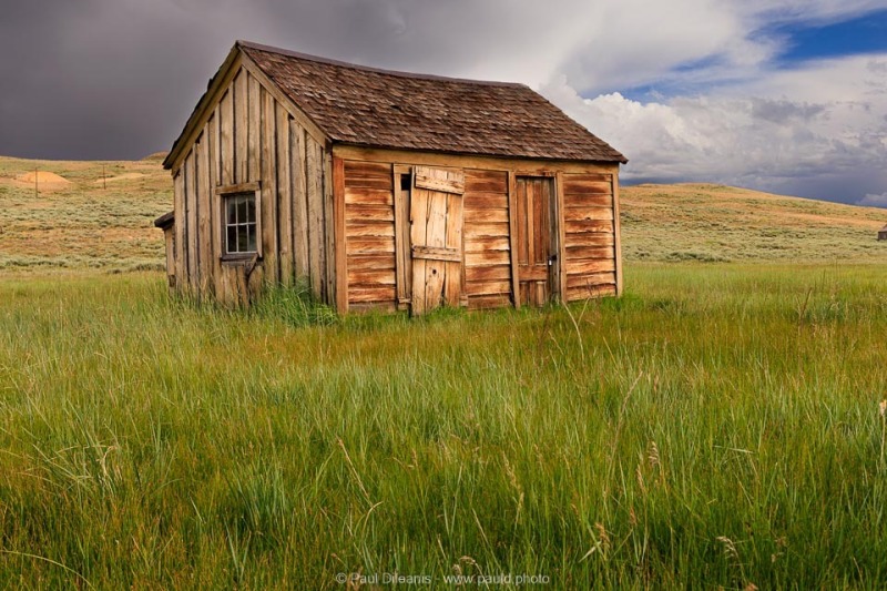
[[[391,164],[345,161],[348,307],[395,309],[395,200]]]

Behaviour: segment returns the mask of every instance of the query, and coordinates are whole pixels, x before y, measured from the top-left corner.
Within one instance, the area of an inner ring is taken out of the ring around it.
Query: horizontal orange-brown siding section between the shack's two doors
[[[465,294],[469,308],[511,304],[511,246],[506,171],[465,173]]]

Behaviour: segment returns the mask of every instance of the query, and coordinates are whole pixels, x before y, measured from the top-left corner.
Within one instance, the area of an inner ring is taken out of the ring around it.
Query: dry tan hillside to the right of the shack
[[[887,210],[708,184],[620,193],[626,261],[887,263]]]

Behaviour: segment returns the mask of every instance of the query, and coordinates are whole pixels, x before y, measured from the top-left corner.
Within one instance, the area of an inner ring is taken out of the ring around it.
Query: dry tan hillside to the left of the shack
[[[162,268],[162,233],[153,221],[172,208],[173,194],[160,163],[160,155],[137,162],[0,157],[0,269]]]

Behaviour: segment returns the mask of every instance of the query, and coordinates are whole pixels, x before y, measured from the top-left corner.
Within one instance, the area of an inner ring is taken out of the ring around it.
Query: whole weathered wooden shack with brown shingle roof
[[[238,41],[163,163],[170,282],[340,313],[618,295],[625,162],[522,84]]]

